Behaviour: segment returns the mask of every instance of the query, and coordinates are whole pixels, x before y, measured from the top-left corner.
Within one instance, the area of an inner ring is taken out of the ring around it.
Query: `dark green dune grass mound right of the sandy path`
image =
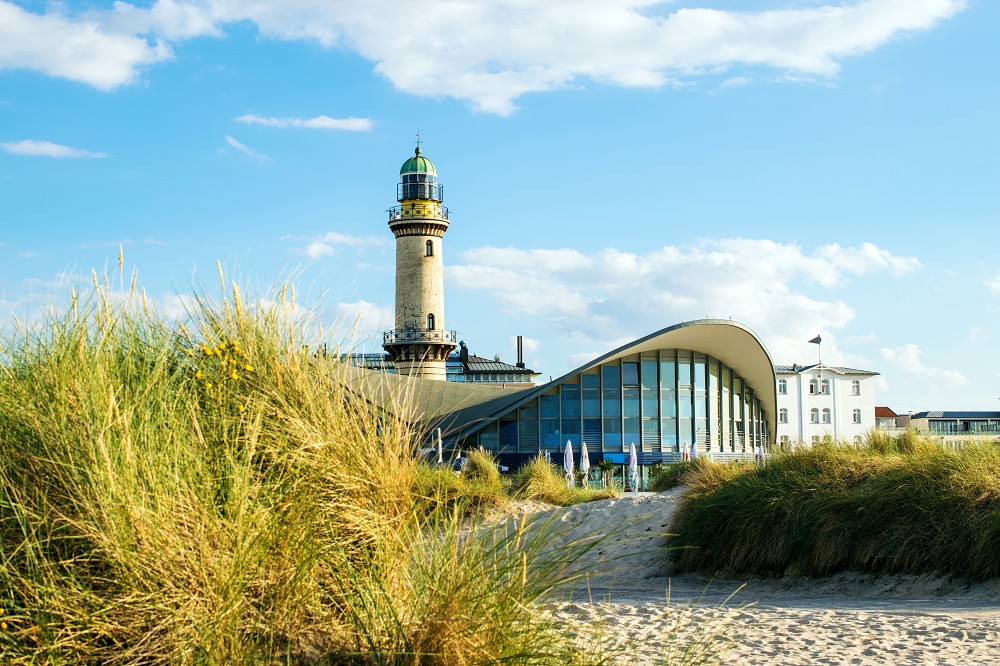
[[[1000,449],[911,434],[777,453],[764,467],[699,464],[673,530],[679,571],[1000,576]]]

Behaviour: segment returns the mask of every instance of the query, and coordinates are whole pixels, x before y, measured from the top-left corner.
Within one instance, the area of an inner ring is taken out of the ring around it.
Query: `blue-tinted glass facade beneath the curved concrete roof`
[[[630,444],[643,464],[671,461],[692,445],[699,451],[753,454],[768,443],[767,415],[752,386],[706,354],[662,349],[589,368],[517,408],[499,421],[499,437],[480,433],[464,447],[481,445],[502,459],[551,452],[566,442],[591,462],[617,460]],[[610,455],[605,455],[610,454]]]

